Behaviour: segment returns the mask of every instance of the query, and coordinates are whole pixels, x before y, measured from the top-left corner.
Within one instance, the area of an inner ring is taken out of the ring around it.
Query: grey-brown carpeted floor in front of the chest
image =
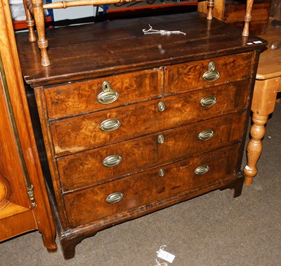
[[[277,103],[263,140],[259,173],[240,197],[217,190],[111,227],[84,239],[75,258],[67,261],[59,244],[58,252],[49,254],[41,234],[32,232],[0,244],[0,264],[155,266],[156,251],[166,245],[165,251],[176,255],[168,265],[281,265],[280,122]]]

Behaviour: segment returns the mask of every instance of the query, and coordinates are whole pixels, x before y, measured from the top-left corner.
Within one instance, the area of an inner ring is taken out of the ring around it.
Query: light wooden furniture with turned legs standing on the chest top
[[[50,65],[48,58],[48,40],[45,34],[44,24],[44,9],[48,8],[68,8],[74,6],[98,6],[103,4],[117,4],[120,2],[131,2],[131,1],[146,1],[146,0],[74,0],[74,1],[61,1],[50,4],[43,4],[42,0],[23,0],[25,5],[25,13],[27,15],[27,27],[30,32],[30,42],[36,41],[34,34],[34,21],[37,27],[38,33],[38,47],[41,51],[41,65]],[[249,23],[251,22],[251,9],[253,7],[254,0],[247,0],[246,15],[244,15],[244,29],[242,32],[243,36],[249,36]],[[214,8],[214,0],[207,1],[208,15],[207,19],[212,19],[212,10]]]

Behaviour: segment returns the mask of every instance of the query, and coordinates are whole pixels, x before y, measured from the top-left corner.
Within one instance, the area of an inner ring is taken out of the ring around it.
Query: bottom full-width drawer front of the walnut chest
[[[231,178],[237,171],[239,149],[240,145],[234,145],[91,189],[65,194],[63,197],[70,227],[105,218],[115,219],[128,211],[141,212],[140,208],[146,208],[148,204],[163,203],[171,197],[190,194],[210,187],[218,180]],[[112,202],[107,203],[106,200]]]

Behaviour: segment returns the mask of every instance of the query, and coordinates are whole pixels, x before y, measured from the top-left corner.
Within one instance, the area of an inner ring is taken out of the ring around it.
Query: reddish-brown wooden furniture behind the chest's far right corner
[[[240,29],[244,26],[246,0],[215,1],[212,14],[214,18],[235,25]],[[207,2],[198,1],[198,11],[207,13]],[[268,25],[270,0],[254,0],[251,11],[251,34],[264,34]]]

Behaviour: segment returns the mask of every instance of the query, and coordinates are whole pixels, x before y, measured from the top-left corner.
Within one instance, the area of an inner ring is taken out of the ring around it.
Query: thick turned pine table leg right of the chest
[[[247,146],[247,165],[244,167],[244,184],[249,186],[258,173],[256,163],[263,149],[262,139],[266,133],[268,115],[274,111],[277,91],[280,86],[280,77],[265,80],[256,80],[253,102],[253,126],[250,129],[251,140]]]

